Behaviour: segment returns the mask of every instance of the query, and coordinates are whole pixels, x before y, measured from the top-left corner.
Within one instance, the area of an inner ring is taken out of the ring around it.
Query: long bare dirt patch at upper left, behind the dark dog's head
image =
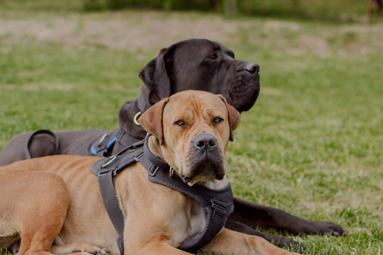
[[[121,13],[84,16],[77,20],[73,16],[47,17],[47,21],[0,20],[0,36],[5,44],[32,39],[63,46],[95,46],[134,52],[158,49],[193,37],[228,41],[228,34],[236,32],[236,23],[227,23],[220,18],[190,21],[162,19],[150,13],[133,14],[133,17]]]

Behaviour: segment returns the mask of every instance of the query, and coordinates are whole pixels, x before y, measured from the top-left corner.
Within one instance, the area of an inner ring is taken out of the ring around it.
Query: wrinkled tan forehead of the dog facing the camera
[[[221,117],[226,119],[228,112],[225,103],[217,95],[199,91],[190,93],[183,91],[171,96],[164,109],[164,119],[177,119],[178,117],[196,118],[203,116]]]

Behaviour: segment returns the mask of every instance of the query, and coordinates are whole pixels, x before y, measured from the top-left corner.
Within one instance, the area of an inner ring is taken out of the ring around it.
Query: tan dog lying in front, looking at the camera
[[[139,122],[152,134],[150,150],[175,170],[178,177],[173,178],[221,188],[228,183],[226,148],[240,117],[222,96],[183,91],[152,106]],[[210,151],[207,156],[206,151]],[[90,171],[97,160],[61,155],[1,167],[0,248],[17,250],[21,239],[20,255],[105,253],[98,247],[117,253],[118,234],[103,205],[97,177]],[[124,214],[126,254],[190,254],[177,247],[203,232],[206,213],[200,203],[149,182],[139,162],[116,176],[115,187]],[[204,249],[224,254],[297,254],[226,228]]]

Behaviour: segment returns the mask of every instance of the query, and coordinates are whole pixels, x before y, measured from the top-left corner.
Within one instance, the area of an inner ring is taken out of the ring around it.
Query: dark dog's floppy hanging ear
[[[160,53],[139,72],[139,78],[160,99],[170,96],[169,73],[173,70],[173,53],[177,44],[160,50]]]

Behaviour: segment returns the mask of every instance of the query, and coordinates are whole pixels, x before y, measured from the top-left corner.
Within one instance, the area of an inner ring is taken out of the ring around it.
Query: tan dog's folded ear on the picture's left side
[[[157,139],[160,141],[160,145],[162,145],[164,142],[164,124],[162,122],[162,116],[164,113],[165,104],[168,101],[169,97],[155,103],[152,107],[147,109],[137,120],[146,132],[157,137]]]

